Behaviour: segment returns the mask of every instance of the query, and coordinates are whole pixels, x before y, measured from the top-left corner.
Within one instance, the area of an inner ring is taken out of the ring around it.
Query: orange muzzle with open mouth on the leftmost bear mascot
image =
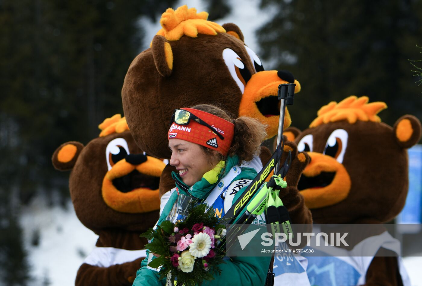
[[[120,160],[104,176],[101,189],[104,202],[118,212],[160,209],[158,185],[164,167],[160,159],[150,156],[139,165]]]

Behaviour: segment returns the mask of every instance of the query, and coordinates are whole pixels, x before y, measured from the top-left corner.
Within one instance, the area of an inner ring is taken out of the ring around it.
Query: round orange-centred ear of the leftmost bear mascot
[[[84,144],[76,141],[70,141],[60,145],[60,147],[54,151],[53,157],[51,157],[54,168],[59,171],[72,169],[83,148]]]

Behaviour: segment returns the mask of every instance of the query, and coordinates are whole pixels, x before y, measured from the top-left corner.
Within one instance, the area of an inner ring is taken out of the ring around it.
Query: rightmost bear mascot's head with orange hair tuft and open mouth
[[[404,206],[406,149],[418,142],[420,121],[404,115],[388,126],[376,115],[387,105],[368,100],[350,96],[330,102],[308,129],[297,133],[298,150],[311,157],[298,188],[315,223],[354,223],[363,218],[383,223]]]

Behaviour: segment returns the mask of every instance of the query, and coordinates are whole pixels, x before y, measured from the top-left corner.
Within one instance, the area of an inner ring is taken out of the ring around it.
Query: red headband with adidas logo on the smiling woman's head
[[[176,124],[176,122],[172,122],[167,134],[168,139],[176,138],[186,140],[216,150],[226,156],[232,144],[235,128],[234,124],[205,111],[193,108],[182,109],[199,117],[215,130],[210,130],[207,126],[199,124],[193,119],[190,119],[189,124],[187,125],[179,125]],[[218,137],[215,132],[219,132],[223,135],[224,140]]]

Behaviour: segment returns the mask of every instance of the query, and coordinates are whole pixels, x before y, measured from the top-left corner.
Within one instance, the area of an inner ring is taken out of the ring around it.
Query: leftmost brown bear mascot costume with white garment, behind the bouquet
[[[76,215],[99,236],[75,285],[132,285],[147,243],[139,234],[158,219],[165,164],[145,155],[120,115],[99,127],[100,136],[86,146],[67,142],[52,157],[57,170],[72,170],[69,189]]]

